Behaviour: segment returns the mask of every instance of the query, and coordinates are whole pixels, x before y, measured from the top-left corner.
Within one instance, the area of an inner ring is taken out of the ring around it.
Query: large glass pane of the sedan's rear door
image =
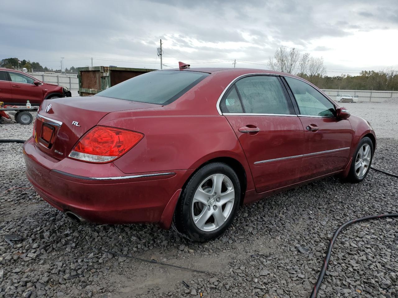
[[[291,114],[281,83],[275,76],[256,75],[236,82],[246,113]]]

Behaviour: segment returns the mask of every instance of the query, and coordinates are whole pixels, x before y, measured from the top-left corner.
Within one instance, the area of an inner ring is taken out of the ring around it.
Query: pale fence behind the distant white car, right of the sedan
[[[338,90],[321,89],[329,95],[331,99],[336,100],[338,94],[358,95],[359,102],[381,103],[385,99],[398,97],[398,91],[377,91],[377,90]]]

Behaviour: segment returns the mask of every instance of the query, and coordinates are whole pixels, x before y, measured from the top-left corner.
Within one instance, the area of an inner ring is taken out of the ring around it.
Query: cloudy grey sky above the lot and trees
[[[329,75],[398,68],[396,0],[2,1],[0,28],[0,59],[54,69],[60,57],[67,68],[91,57],[94,66],[160,68],[159,39],[171,67],[238,59],[266,69],[284,45],[323,57]]]

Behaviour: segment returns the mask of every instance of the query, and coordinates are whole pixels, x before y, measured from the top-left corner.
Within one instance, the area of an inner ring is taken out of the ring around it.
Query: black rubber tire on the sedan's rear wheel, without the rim
[[[230,182],[232,182],[232,185],[234,187],[235,197],[234,197],[232,210],[230,211],[230,215],[226,219],[226,221],[217,229],[207,232],[199,229],[196,226],[196,224],[193,221],[193,215],[191,214],[191,208],[193,208],[192,207],[193,197],[199,186],[201,186],[202,182],[206,178],[214,174],[223,174],[230,180]],[[195,172],[195,174],[191,176],[185,188],[183,188],[179,201],[176,206],[176,212],[174,214],[174,219],[173,219],[174,226],[177,229],[177,231],[180,234],[182,234],[182,236],[184,236],[189,240],[206,242],[215,239],[218,236],[220,236],[222,233],[224,233],[224,231],[231,225],[236,215],[236,212],[238,211],[238,207],[240,206],[240,199],[241,199],[240,182],[234,170],[232,170],[232,168],[225,163],[206,164],[202,168],[199,168],[199,170],[197,170],[197,172]]]

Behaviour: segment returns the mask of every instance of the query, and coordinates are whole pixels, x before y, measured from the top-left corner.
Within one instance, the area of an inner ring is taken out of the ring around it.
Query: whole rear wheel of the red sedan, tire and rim
[[[181,193],[174,224],[186,238],[205,242],[220,236],[232,223],[240,203],[240,183],[224,163],[200,168]]]

